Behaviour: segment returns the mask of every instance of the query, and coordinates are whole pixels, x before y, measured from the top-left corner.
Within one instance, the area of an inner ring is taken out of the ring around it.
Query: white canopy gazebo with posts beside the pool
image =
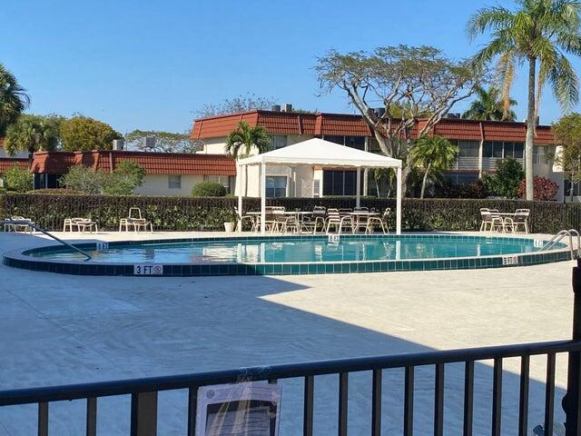
[[[397,168],[398,183],[396,196],[396,233],[401,234],[401,161],[392,157],[364,152],[345,145],[331,143],[319,138],[309,139],[298,144],[273,150],[268,153],[256,154],[238,161],[238,183],[245,185],[245,171],[242,168],[249,165],[260,167],[261,181],[261,233],[265,233],[266,221],[266,166],[328,166],[357,169],[356,205],[359,207],[361,192],[361,169],[365,168]],[[238,190],[238,213],[242,214],[242,189]]]

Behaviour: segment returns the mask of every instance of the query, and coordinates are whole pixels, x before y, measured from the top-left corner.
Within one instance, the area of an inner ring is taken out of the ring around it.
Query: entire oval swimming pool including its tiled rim
[[[79,243],[9,253],[9,266],[86,275],[248,275],[493,268],[570,259],[563,243],[458,234],[289,235]]]

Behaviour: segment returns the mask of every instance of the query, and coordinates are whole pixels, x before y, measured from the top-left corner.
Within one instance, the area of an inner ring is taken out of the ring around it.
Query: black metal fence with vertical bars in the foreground
[[[97,428],[98,399],[108,396],[131,395],[131,434],[133,436],[152,436],[157,432],[157,398],[160,391],[189,391],[187,434],[194,435],[196,420],[197,391],[202,386],[235,383],[240,381],[270,381],[283,379],[301,379],[303,383],[302,428],[294,434],[310,436],[313,434],[314,394],[317,377],[333,374],[339,381],[338,429],[340,436],[346,436],[350,427],[348,398],[350,374],[370,372],[369,385],[371,413],[369,416],[371,434],[381,434],[381,419],[386,411],[382,410],[382,374],[384,370],[404,369],[404,407],[403,434],[414,432],[414,375],[419,367],[431,366],[435,369],[433,398],[433,432],[442,435],[444,432],[444,393],[446,368],[450,363],[464,364],[464,404],[463,434],[473,434],[474,418],[474,365],[475,362],[494,362],[492,379],[491,434],[503,434],[502,391],[503,362],[508,358],[520,358],[520,389],[518,410],[518,435],[526,436],[528,428],[529,404],[529,370],[531,356],[545,356],[547,359],[547,376],[545,381],[545,417],[544,434],[553,435],[555,416],[555,377],[556,355],[568,354],[567,392],[563,401],[566,412],[566,435],[581,434],[581,265],[574,268],[573,288],[574,326],[571,341],[525,343],[465,350],[443,352],[420,352],[392,356],[378,356],[358,359],[346,359],[327,362],[307,362],[290,365],[278,365],[255,368],[241,368],[230,371],[203,372],[169,377],[156,377],[126,381],[105,381],[68,386],[0,391],[0,406],[30,404],[38,405],[38,434],[49,434],[49,405],[54,401],[86,401],[86,435],[94,436]]]

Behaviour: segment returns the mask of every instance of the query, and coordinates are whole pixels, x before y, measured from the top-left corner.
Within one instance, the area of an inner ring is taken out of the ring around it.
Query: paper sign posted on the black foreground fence
[[[278,436],[281,386],[262,381],[198,390],[196,436]]]

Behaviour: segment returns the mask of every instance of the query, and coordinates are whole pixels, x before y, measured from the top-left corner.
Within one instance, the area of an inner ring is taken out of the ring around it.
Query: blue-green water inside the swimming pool
[[[559,244],[556,248],[561,248]],[[121,243],[84,249],[97,263],[337,263],[480,257],[534,253],[531,239],[484,236],[415,235],[267,237],[186,242]],[[83,261],[71,250],[27,253],[54,261]]]

